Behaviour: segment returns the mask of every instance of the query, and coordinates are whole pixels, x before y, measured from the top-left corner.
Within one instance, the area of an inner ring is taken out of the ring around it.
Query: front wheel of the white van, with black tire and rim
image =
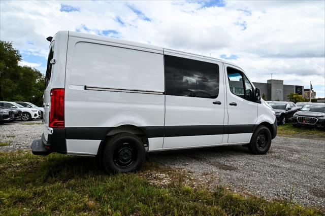
[[[264,125],[258,126],[252,135],[248,149],[252,154],[264,155],[271,147],[272,135]]]

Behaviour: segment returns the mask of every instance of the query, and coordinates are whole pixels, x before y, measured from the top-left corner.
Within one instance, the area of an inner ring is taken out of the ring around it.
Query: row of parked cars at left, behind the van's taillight
[[[15,120],[30,121],[42,119],[44,109],[30,102],[8,102],[0,101],[0,123]]]

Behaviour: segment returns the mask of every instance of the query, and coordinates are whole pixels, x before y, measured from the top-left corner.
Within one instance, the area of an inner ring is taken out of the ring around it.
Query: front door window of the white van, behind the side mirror
[[[244,82],[241,73],[233,68],[227,67],[230,91],[238,97],[245,98]]]

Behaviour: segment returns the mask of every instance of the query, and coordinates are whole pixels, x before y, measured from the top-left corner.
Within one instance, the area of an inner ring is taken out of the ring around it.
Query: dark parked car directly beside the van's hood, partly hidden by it
[[[275,111],[278,125],[283,125],[293,119],[294,113],[297,112],[297,106],[294,102],[272,101],[269,103]]]

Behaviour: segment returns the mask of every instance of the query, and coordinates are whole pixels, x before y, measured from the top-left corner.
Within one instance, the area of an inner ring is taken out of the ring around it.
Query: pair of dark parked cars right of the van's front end
[[[325,103],[266,101],[275,111],[279,125],[291,121],[293,126],[325,129]]]

